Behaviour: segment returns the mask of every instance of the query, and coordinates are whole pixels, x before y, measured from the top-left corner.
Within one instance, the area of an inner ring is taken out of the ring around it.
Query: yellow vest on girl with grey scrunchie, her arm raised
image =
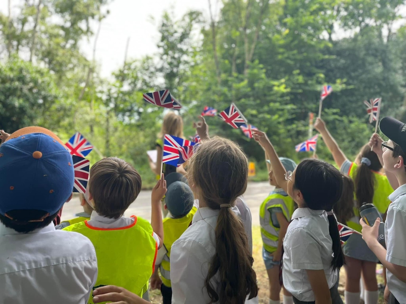
[[[358,165],[356,163],[351,164],[350,170],[348,171],[348,175],[350,176],[350,178],[352,178],[352,180],[355,180],[357,168]],[[372,171],[372,173],[375,176],[374,198],[372,200],[372,203],[374,204],[376,209],[378,209],[378,211],[383,214],[386,212],[386,210],[389,207],[389,204],[391,203],[388,197],[393,192],[393,188],[389,183],[389,180],[386,175],[376,171]],[[355,193],[354,200],[356,200]],[[361,217],[358,208],[355,206],[354,206],[354,214],[355,216],[347,222],[347,226],[356,231],[361,232],[362,226],[359,223]]]

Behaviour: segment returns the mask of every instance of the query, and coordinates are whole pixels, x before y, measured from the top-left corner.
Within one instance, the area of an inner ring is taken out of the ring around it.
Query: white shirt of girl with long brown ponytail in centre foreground
[[[237,208],[233,212],[240,216]],[[210,302],[205,279],[209,263],[216,253],[214,230],[220,210],[199,208],[193,216],[192,225],[186,229],[171,248],[172,304],[207,304]],[[217,273],[210,283],[220,293]]]

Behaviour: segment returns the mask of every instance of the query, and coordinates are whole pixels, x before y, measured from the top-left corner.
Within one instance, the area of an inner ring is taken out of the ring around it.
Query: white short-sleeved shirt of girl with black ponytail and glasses
[[[283,241],[283,285],[296,299],[315,301],[306,270],[324,270],[328,288],[335,285],[332,246],[326,211],[298,208],[293,212]]]

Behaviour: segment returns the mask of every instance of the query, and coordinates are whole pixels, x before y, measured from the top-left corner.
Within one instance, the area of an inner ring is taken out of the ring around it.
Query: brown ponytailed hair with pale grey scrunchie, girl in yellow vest
[[[368,158],[371,161],[371,165],[361,163],[362,158]],[[364,204],[371,204],[374,200],[374,187],[375,176],[372,171],[379,172],[382,169],[382,165],[379,161],[378,155],[374,151],[371,151],[371,147],[366,144],[361,149],[361,152],[356,158],[358,169],[355,174],[355,197],[358,208]]]

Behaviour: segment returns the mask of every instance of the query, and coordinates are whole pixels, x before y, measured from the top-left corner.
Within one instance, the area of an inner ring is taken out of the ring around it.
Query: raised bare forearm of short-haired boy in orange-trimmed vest
[[[164,241],[164,225],[162,223],[161,200],[166,193],[166,180],[164,173],[161,173],[161,179],[158,180],[156,186],[152,189],[151,194],[151,226],[153,232],[158,235],[159,246],[162,247]]]

